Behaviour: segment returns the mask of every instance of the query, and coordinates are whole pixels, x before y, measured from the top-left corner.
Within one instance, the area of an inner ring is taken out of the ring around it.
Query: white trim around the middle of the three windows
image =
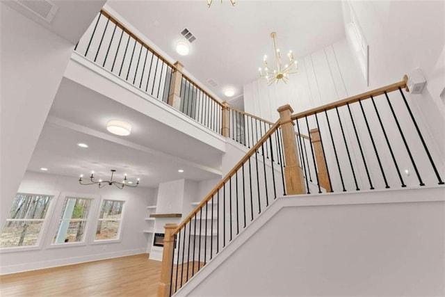
[[[54,234],[57,232],[58,222],[60,220],[60,214],[63,212],[63,204],[67,197],[71,198],[85,198],[90,199],[90,211],[88,213],[88,218],[86,219],[87,223],[85,226],[85,230],[83,231],[83,241],[78,242],[64,242],[64,243],[52,243]],[[99,210],[100,195],[92,195],[89,193],[72,193],[72,192],[62,192],[60,193],[60,198],[58,200],[58,205],[54,211],[53,220],[51,222],[51,227],[48,229],[47,237],[45,239],[45,249],[51,248],[72,248],[76,246],[87,246],[90,243],[90,237],[88,236],[88,232],[90,232],[92,221],[97,218],[97,211]]]

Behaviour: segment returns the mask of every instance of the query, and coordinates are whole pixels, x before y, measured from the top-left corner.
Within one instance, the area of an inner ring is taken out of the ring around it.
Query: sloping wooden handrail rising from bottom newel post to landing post
[[[270,127],[269,131],[267,131],[266,134],[264,134],[264,136],[259,139],[259,141],[249,150],[249,152],[247,154],[245,154],[245,156],[243,156],[243,158],[240,161],[238,161],[238,163],[236,163],[234,168],[232,168],[232,170],[230,170],[230,172],[227,173],[227,175],[223,179],[221,179],[221,181],[213,188],[213,190],[209,193],[209,195],[207,195],[207,197],[204,198],[204,200],[202,200],[202,202],[200,204],[198,204],[197,207],[195,207],[195,209],[193,209],[191,214],[189,214],[182,221],[182,223],[178,225],[178,227],[172,233],[172,236],[175,236],[175,234],[177,234],[179,231],[181,231],[182,227],[184,227],[189,221],[191,221],[193,216],[195,216],[195,214],[197,214],[197,212],[200,211],[200,209],[202,207],[204,207],[204,205],[207,204],[207,202],[209,202],[209,200],[211,200],[213,195],[218,193],[219,189],[232,177],[232,175],[235,174],[236,170],[241,168],[241,166],[243,166],[243,163],[248,161],[250,156],[252,156],[252,154],[254,154],[254,152],[256,152],[259,149],[259,147],[261,147],[261,145],[264,143],[264,141],[266,141],[269,138],[269,136],[272,135],[273,132],[275,132],[278,127],[280,127],[280,125],[281,125],[280,120],[277,120],[277,122],[275,122],[275,124],[273,124],[273,126]]]

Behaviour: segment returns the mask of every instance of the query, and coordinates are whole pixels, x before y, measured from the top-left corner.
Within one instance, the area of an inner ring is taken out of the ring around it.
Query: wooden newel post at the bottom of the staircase
[[[158,286],[158,297],[170,297],[173,252],[175,251],[175,236],[172,236],[172,233],[177,227],[177,224],[165,224],[164,226],[164,248],[162,253],[161,281]]]

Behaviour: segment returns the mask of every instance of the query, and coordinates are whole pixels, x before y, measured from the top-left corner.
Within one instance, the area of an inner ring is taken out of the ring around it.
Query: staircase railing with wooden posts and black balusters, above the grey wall
[[[403,88],[405,79],[296,114],[280,107],[191,214],[165,226],[158,296],[175,294],[278,196],[443,185]]]

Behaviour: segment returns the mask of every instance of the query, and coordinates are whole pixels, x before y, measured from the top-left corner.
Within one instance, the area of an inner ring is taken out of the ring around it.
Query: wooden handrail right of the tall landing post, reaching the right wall
[[[405,88],[407,90],[407,84],[406,84],[407,79],[408,79],[408,77],[405,75],[403,77],[403,81],[399,81],[398,83],[392,83],[391,85],[384,86],[382,88],[378,88],[375,90],[370,90],[368,92],[365,92],[365,93],[362,93],[359,95],[355,95],[353,97],[348,97],[346,99],[341,99],[339,101],[332,102],[330,104],[325,104],[323,106],[316,107],[315,109],[309,109],[309,111],[302,111],[301,113],[296,113],[291,116],[291,119],[298,120],[299,118],[305,118],[309,115],[314,115],[314,114],[320,113],[322,111],[328,111],[330,109],[334,109],[336,107],[340,107],[340,106],[343,106],[346,104],[351,104],[351,103],[357,102],[362,99],[368,99],[368,98],[371,98],[371,96],[375,97],[378,95],[385,94],[385,92],[387,92],[387,93],[392,92],[394,90],[398,90],[398,88]]]

